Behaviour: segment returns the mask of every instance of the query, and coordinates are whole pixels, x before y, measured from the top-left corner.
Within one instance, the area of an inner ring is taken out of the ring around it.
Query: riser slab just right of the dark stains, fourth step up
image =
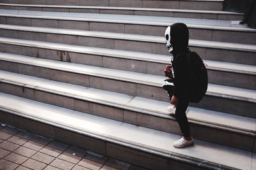
[[[84,53],[70,52],[69,57],[70,57],[70,62],[102,67],[102,57],[99,55],[89,55]]]

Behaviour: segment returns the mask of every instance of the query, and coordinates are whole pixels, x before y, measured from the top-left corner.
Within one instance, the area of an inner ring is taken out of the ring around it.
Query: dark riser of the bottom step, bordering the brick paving
[[[60,129],[52,125],[42,124],[41,122],[29,120],[28,118],[22,118],[16,115],[12,115],[10,113],[5,113],[3,111],[0,112],[0,118],[1,123],[13,125],[17,128],[24,129],[29,132],[34,132],[41,136],[47,136],[63,143],[67,143],[68,145],[77,146],[85,150],[99,153],[100,155],[106,155],[108,157],[123,161],[127,160],[126,162],[130,162],[131,164],[136,164],[137,166],[145,167],[148,169],[157,170],[157,167],[160,167],[161,169],[169,170],[169,165],[175,167],[181,164],[182,166],[180,166],[180,168],[186,166],[186,164],[182,164],[165,157],[145,153],[140,150],[127,148],[121,145],[116,145],[114,143],[109,143],[108,141],[92,138],[90,136],[86,136],[84,134],[79,134],[72,131],[67,131],[65,129]],[[127,153],[129,155],[122,154],[122,156],[119,156],[118,152],[120,151],[128,151]],[[118,158],[116,157],[116,155],[118,155]],[[136,157],[136,159],[132,159],[134,157]],[[147,157],[147,159],[145,159],[145,157]],[[197,169],[196,167],[191,165],[189,165],[188,167],[189,169]],[[186,169],[186,167],[184,167],[183,169]]]

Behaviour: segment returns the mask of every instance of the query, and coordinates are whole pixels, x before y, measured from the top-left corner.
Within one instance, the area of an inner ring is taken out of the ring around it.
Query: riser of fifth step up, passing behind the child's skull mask
[[[52,43],[94,46],[99,48],[170,55],[166,49],[165,43],[151,43],[148,41],[72,36],[65,34],[49,34],[44,32],[13,31],[7,29],[0,29],[0,36],[6,38],[29,39]],[[189,46],[189,48],[197,52],[202,59],[256,65],[255,52],[243,52],[239,50],[225,50],[198,46]],[[241,60],[242,56],[243,60]]]

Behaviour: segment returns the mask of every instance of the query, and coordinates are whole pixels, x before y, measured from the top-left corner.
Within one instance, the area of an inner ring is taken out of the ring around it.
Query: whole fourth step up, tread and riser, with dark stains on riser
[[[39,36],[33,36],[39,37]],[[77,64],[108,67],[125,71],[163,76],[163,68],[172,56],[129,52],[88,46],[69,46],[59,43],[0,38],[0,52],[31,57],[62,60]],[[208,64],[209,82],[219,85],[255,90],[255,66],[204,60]],[[241,81],[243,79],[243,81]]]

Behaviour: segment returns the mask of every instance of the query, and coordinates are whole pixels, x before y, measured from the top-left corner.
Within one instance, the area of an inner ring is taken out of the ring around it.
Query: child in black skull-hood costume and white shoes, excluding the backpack
[[[164,69],[165,76],[169,79],[163,83],[170,97],[170,103],[167,110],[175,113],[175,118],[180,126],[183,136],[173,143],[175,148],[184,148],[193,144],[193,138],[190,134],[186,110],[189,105],[189,64],[188,64],[188,27],[183,23],[175,23],[167,27],[165,31],[166,46],[172,53],[172,64]],[[174,86],[173,86],[174,85]]]

